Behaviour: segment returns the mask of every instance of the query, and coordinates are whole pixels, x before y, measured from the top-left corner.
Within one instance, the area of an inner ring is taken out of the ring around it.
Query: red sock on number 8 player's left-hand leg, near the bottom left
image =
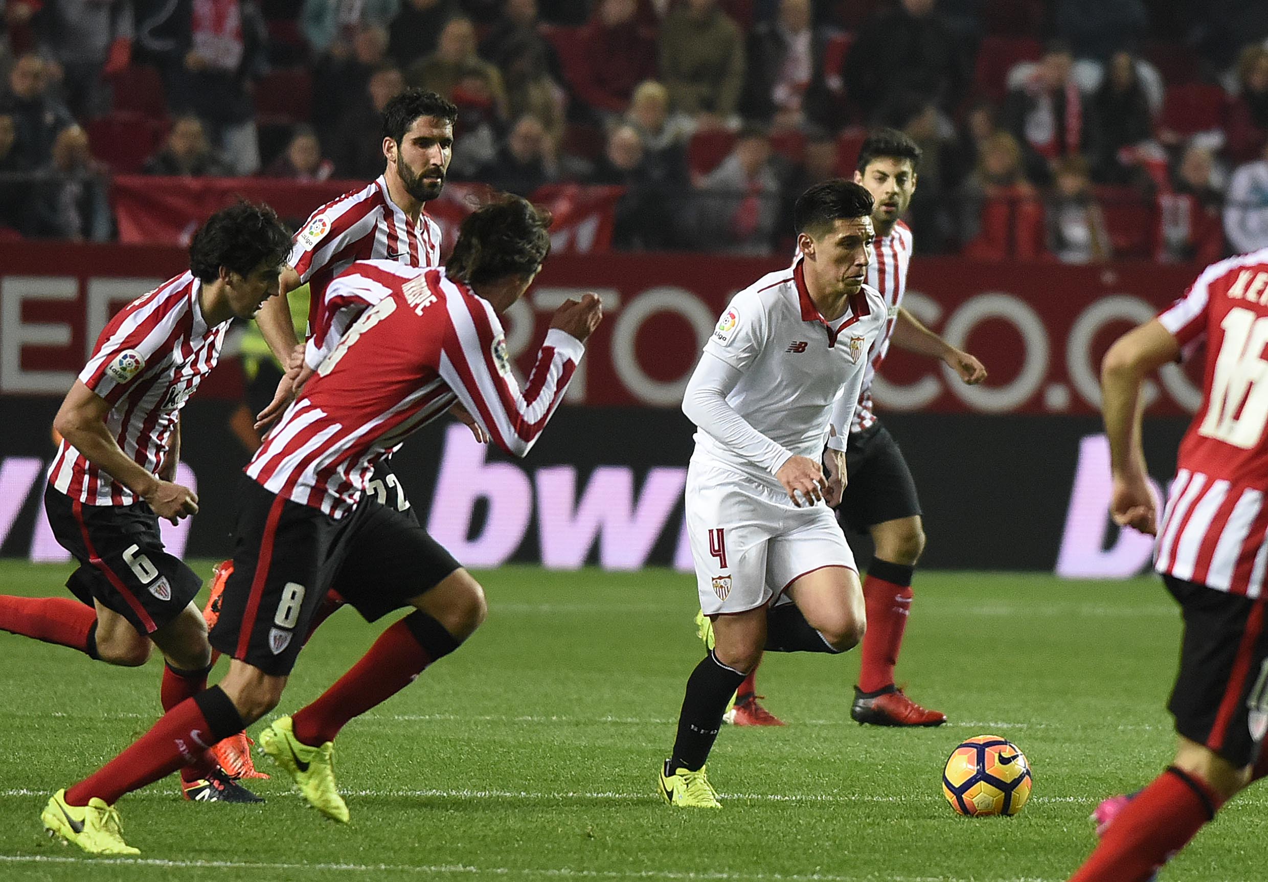
[[[186,698],[158,719],[148,732],[133,741],[118,757],[66,791],[66,802],[86,806],[96,796],[113,805],[124,793],[164,778],[179,768],[198,762],[204,748],[221,738],[242,731],[242,720],[232,702],[219,689],[208,706],[219,710],[217,720],[203,713],[198,698]],[[205,694],[205,693],[204,693]],[[237,729],[235,729],[237,726]]]

